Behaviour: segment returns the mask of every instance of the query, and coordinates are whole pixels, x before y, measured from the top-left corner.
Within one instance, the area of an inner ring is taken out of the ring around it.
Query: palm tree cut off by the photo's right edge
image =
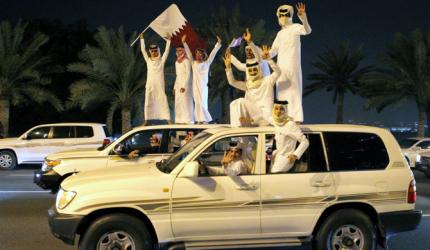
[[[366,79],[362,94],[377,111],[412,100],[418,108],[418,136],[424,136],[426,107],[430,102],[430,33],[417,29],[408,38],[396,34],[381,61],[386,68]]]

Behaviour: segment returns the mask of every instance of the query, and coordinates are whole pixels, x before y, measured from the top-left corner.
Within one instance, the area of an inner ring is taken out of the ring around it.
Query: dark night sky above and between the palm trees
[[[392,42],[396,32],[408,34],[416,28],[429,30],[430,2],[425,0],[406,1],[304,1],[312,33],[302,37],[302,67],[304,87],[309,84],[306,75],[314,69],[310,65],[327,47],[336,47],[349,40],[353,47],[363,45],[365,60],[363,65],[376,64],[376,58],[384,51],[384,45]],[[124,26],[127,31],[144,29],[171,3],[176,3],[191,24],[214,7],[226,7],[239,3],[241,14],[256,19],[264,19],[267,29],[279,30],[275,16],[281,4],[296,4],[297,1],[207,1],[207,0],[0,0],[0,17],[16,21],[18,18],[60,19],[72,23],[85,19],[91,29],[104,25],[117,28]],[[295,22],[298,18],[295,16]],[[238,34],[240,35],[240,34]],[[225,46],[224,46],[225,47]],[[173,56],[173,55],[172,55]],[[219,55],[218,55],[219,56]],[[304,98],[305,123],[333,123],[336,107],[331,103],[332,93],[318,92]],[[405,102],[390,107],[381,113],[364,111],[365,101],[359,97],[347,96],[344,121],[373,123],[380,121],[386,125],[400,122],[414,122],[417,111],[413,103]]]

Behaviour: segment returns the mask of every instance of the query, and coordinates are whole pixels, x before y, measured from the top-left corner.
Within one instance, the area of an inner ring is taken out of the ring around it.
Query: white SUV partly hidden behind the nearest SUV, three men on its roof
[[[55,193],[60,183],[73,173],[118,166],[145,166],[169,157],[181,146],[181,141],[189,133],[196,135],[207,128],[219,126],[223,125],[184,124],[136,127],[105,148],[75,149],[48,155],[41,170],[35,171],[33,182]],[[151,149],[150,138],[153,135],[158,136],[160,146],[155,151],[144,152],[145,149]],[[128,154],[135,149],[140,149],[140,156],[129,159]]]

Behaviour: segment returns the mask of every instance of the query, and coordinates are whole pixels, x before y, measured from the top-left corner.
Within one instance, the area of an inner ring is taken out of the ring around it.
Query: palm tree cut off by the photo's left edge
[[[39,52],[48,37],[30,35],[26,27],[21,21],[14,27],[8,21],[0,23],[0,123],[5,136],[9,133],[11,106],[48,102],[62,110],[60,100],[44,88],[51,82],[46,77],[49,60]]]

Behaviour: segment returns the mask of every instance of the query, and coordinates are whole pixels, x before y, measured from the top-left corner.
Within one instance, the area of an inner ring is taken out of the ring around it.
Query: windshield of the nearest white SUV
[[[164,173],[170,173],[173,169],[185,158],[187,155],[193,151],[198,145],[200,145],[204,140],[206,140],[211,134],[206,132],[201,132],[196,135],[191,141],[182,146],[176,153],[170,156],[168,159],[157,163],[157,167],[160,171]]]

